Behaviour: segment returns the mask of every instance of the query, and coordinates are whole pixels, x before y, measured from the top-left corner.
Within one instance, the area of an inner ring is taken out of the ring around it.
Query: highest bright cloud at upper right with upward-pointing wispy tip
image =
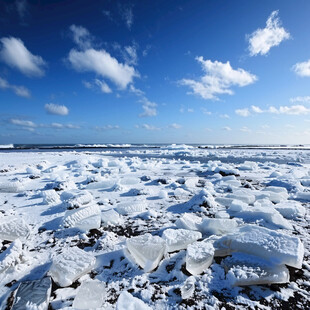
[[[266,27],[257,29],[249,36],[249,51],[251,56],[266,55],[273,46],[290,38],[289,32],[281,27],[279,11],[273,11],[267,19]]]

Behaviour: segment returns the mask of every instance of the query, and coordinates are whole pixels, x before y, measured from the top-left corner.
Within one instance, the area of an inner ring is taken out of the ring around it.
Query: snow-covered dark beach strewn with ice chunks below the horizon
[[[302,147],[2,151],[1,309],[305,309],[309,186]]]

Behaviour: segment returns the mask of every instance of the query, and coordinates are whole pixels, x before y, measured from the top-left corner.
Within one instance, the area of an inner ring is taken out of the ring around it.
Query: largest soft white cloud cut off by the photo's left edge
[[[0,59],[12,68],[18,69],[27,76],[43,76],[46,62],[41,56],[31,54],[22,40],[18,38],[2,38]]]

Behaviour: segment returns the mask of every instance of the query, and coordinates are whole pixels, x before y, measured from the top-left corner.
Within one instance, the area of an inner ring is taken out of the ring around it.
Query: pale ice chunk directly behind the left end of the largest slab
[[[203,234],[224,235],[236,230],[237,226],[234,219],[205,218],[198,225],[198,230]]]

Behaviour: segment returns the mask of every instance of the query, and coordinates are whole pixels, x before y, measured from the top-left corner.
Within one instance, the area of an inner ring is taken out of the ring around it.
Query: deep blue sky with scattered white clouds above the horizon
[[[0,144],[310,144],[307,0],[0,0]]]

